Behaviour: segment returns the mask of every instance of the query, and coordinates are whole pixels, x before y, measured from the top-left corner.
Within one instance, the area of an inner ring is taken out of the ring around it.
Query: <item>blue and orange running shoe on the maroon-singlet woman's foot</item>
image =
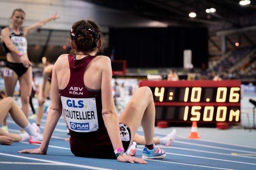
[[[143,159],[163,159],[166,156],[166,151],[160,149],[158,146],[154,145],[154,149],[149,150],[144,147],[142,158]]]

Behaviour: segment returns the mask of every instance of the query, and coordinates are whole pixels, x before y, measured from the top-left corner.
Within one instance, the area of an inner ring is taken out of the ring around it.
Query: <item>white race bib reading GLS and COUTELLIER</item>
[[[61,103],[70,130],[93,132],[99,129],[95,98],[80,99],[61,96]]]

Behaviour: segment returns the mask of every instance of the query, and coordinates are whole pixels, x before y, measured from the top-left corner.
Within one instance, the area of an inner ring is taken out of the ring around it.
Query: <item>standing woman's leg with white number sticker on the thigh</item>
[[[18,76],[17,74],[10,68],[4,68],[4,87],[6,96],[13,96],[15,85],[17,83]],[[7,125],[8,114],[6,114],[5,118],[3,119],[3,126]]]

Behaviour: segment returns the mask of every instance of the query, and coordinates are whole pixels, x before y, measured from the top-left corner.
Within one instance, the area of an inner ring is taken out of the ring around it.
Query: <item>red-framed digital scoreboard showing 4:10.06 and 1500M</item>
[[[154,96],[156,121],[240,122],[241,80],[140,81]]]

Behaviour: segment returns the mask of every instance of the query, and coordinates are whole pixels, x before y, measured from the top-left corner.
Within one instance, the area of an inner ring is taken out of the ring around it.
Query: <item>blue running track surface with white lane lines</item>
[[[46,116],[43,116],[42,127],[44,127]],[[29,121],[35,122],[35,120]],[[10,132],[19,133],[20,128],[11,118],[8,120],[8,125]],[[157,130],[155,133],[157,136],[164,135],[157,133]],[[17,153],[18,150],[38,147],[28,142],[15,142],[11,146],[0,145],[0,170],[256,170],[255,147],[177,138],[171,147],[162,146],[167,152],[165,159],[147,160],[148,164],[129,164],[111,159],[73,156],[69,142],[64,141],[65,138],[68,138],[68,135],[64,120],[61,118],[53,133],[47,155]],[[137,157],[142,156],[142,150],[143,146],[138,145]]]

